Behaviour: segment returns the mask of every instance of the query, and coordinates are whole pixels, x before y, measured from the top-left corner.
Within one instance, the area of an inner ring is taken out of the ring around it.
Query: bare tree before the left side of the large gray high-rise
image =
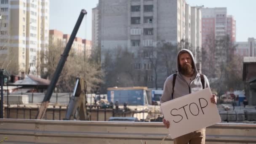
[[[102,71],[104,72],[104,84],[101,92],[108,87],[135,86],[135,70],[133,67],[133,55],[127,49],[121,47],[107,50],[104,53]]]

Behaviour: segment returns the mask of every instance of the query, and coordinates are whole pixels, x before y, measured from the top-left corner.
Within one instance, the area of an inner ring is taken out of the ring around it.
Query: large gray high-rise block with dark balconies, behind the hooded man
[[[99,0],[97,9],[101,63],[104,63],[105,51],[127,48],[134,56],[134,68],[148,70],[148,87],[153,87],[154,78],[150,49],[157,48],[163,41],[179,44],[188,35],[191,40],[192,33],[194,48],[201,47],[200,9],[191,8],[194,15],[187,16],[185,0]],[[187,11],[191,13],[190,8]],[[186,16],[193,23],[186,23]],[[190,29],[187,29],[188,35],[186,26]],[[157,78],[160,87],[165,78],[166,75]]]

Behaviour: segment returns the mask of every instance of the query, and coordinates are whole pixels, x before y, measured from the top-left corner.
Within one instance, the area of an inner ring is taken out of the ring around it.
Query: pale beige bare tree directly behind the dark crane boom
[[[47,70],[41,72],[41,77],[51,80],[63,51],[64,47],[61,41],[49,44],[48,51],[45,54],[42,53],[46,63],[42,63],[40,67]],[[93,91],[98,88],[99,83],[102,82],[100,66],[85,57],[85,55],[80,55],[71,49],[56,85],[61,91],[72,91],[76,77],[83,78],[86,81],[87,91]]]

